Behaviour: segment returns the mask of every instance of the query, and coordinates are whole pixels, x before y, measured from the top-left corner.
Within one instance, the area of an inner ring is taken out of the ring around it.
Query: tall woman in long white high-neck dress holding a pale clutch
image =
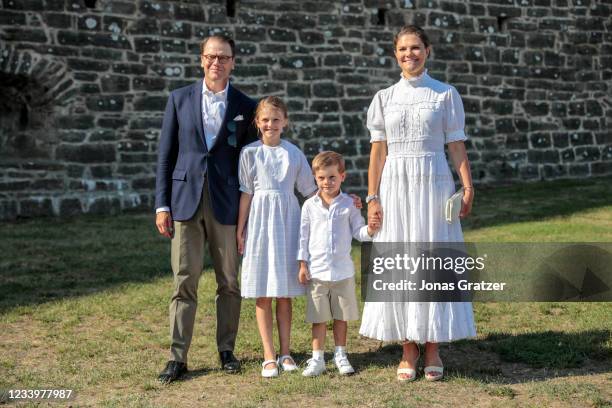
[[[460,223],[444,219],[444,204],[455,191],[445,144],[465,189],[461,218],[474,198],[461,98],[427,74],[430,44],[423,29],[403,27],[394,50],[402,77],[376,93],[367,116],[368,218],[382,221],[374,241],[461,242]],[[435,381],[443,376],[438,343],[475,337],[476,329],[469,302],[366,302],[360,333],[403,342],[399,381],[416,378],[417,343],[425,344],[425,378]]]

